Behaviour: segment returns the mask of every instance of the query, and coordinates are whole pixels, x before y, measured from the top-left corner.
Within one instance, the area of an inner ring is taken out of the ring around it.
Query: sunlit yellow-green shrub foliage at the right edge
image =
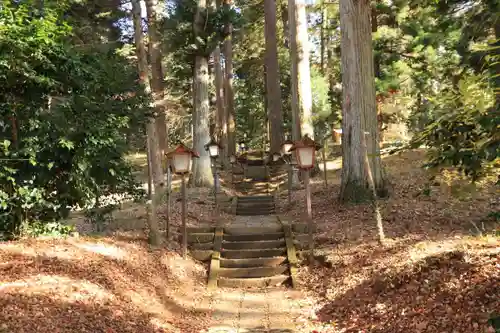
[[[473,180],[500,156],[500,113],[484,79],[470,75],[431,100],[436,118],[413,138],[415,146],[431,148],[429,165],[453,165]]]

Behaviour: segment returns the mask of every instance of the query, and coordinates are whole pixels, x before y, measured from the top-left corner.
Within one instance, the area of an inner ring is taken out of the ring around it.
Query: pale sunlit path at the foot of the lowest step
[[[208,333],[299,333],[307,305],[299,291],[220,289],[211,295]]]

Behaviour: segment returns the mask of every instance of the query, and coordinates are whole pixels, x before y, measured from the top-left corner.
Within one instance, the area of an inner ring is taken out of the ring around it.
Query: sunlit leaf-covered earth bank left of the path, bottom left
[[[117,237],[0,243],[0,332],[199,332],[205,274]]]

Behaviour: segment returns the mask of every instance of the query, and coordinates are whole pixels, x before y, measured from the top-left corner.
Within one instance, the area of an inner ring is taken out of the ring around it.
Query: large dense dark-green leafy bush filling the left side
[[[125,137],[149,114],[134,66],[69,44],[61,13],[0,8],[0,232],[111,193],[140,195]]]

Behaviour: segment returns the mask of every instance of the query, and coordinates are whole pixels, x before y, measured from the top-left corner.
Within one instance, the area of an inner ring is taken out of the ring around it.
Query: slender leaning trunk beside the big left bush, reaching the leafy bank
[[[132,14],[134,20],[134,36],[137,55],[137,67],[139,77],[144,84],[146,91],[150,93],[150,84],[148,76],[148,60],[146,48],[144,47],[144,38],[142,35],[142,19],[141,19],[141,3],[140,0],[132,0]],[[156,194],[158,192],[158,182],[162,180],[161,155],[158,146],[158,137],[154,119],[150,119],[147,124],[147,153],[148,153],[148,192],[149,207],[148,227],[149,227],[149,242],[151,245],[160,245],[160,233],[158,229],[158,219],[156,216]],[[154,179],[154,181],[153,181]],[[161,187],[161,186],[160,186]]]

